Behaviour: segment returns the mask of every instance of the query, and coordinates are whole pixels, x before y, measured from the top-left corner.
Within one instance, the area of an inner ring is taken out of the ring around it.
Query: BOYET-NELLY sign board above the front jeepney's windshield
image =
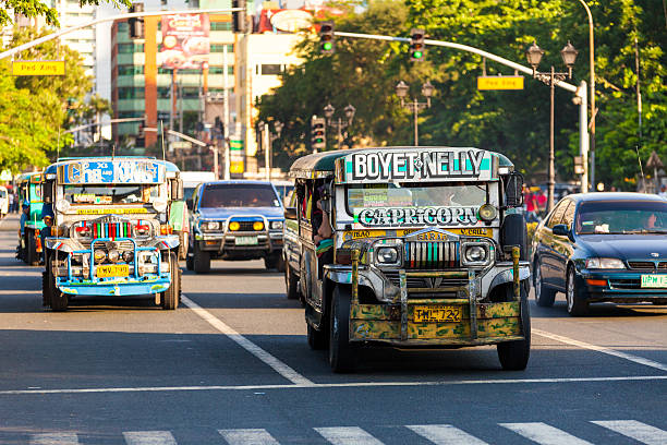
[[[337,180],[344,183],[497,179],[497,157],[478,148],[364,151],[337,163]]]

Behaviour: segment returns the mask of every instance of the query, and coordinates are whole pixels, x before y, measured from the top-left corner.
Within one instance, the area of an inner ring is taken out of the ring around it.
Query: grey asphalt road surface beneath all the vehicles
[[[332,374],[260,262],[150,299],[41,308],[0,221],[0,444],[667,444],[667,308],[531,302],[524,372],[492,347],[365,351]]]

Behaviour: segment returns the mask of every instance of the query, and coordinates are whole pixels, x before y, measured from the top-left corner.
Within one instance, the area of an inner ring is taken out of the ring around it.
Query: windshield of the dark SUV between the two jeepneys
[[[280,201],[268,184],[208,184],[199,207],[280,207]]]

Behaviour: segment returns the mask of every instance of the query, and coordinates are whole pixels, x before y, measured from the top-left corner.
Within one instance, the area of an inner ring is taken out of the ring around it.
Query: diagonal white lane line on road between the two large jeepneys
[[[265,351],[264,349],[262,349],[260,347],[258,347],[257,345],[232,329],[222,321],[216,318],[210,312],[208,312],[187,297],[181,296],[181,301],[187,308],[192,309],[195,314],[199,315],[204,321],[208,322],[209,325],[234,340],[239,346],[241,346],[243,349],[262,360],[264,363],[271,366],[278,374],[282,375],[284,378],[296,385],[314,385],[314,383],[311,382],[308,378],[299,374],[286,363],[281,362],[276,357],[271,356],[270,353],[268,353],[267,351]]]

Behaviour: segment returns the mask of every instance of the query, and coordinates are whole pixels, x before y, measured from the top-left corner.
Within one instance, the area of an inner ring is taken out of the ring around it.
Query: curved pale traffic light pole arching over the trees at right
[[[392,37],[392,36],[383,36],[377,34],[360,34],[360,33],[345,33],[336,31],[333,35],[337,37],[352,37],[352,38],[367,38],[372,40],[385,40],[385,41],[404,41],[411,43],[411,38],[409,37]],[[494,53],[484,51],[478,48],[474,48],[468,45],[454,44],[452,41],[442,41],[442,40],[432,40],[425,39],[425,45],[439,46],[445,48],[457,49],[459,51],[472,52],[478,56],[482,56],[488,60],[493,60],[506,67],[509,67],[513,70],[520,71],[524,74],[530,74],[533,76],[533,69],[519,64],[517,62],[512,62],[511,60],[505,59],[500,56],[496,56]],[[574,94],[572,101],[579,106],[580,112],[580,124],[579,124],[579,153],[580,155],[587,160],[589,158],[589,125],[582,124],[581,117],[587,117],[587,92],[586,92],[586,82],[581,81],[579,86],[569,84],[567,82],[558,82],[556,86],[563,88],[570,93]],[[583,107],[583,108],[582,108]],[[584,163],[584,172],[581,175],[581,192],[585,193],[589,191],[589,166],[587,163]]]

